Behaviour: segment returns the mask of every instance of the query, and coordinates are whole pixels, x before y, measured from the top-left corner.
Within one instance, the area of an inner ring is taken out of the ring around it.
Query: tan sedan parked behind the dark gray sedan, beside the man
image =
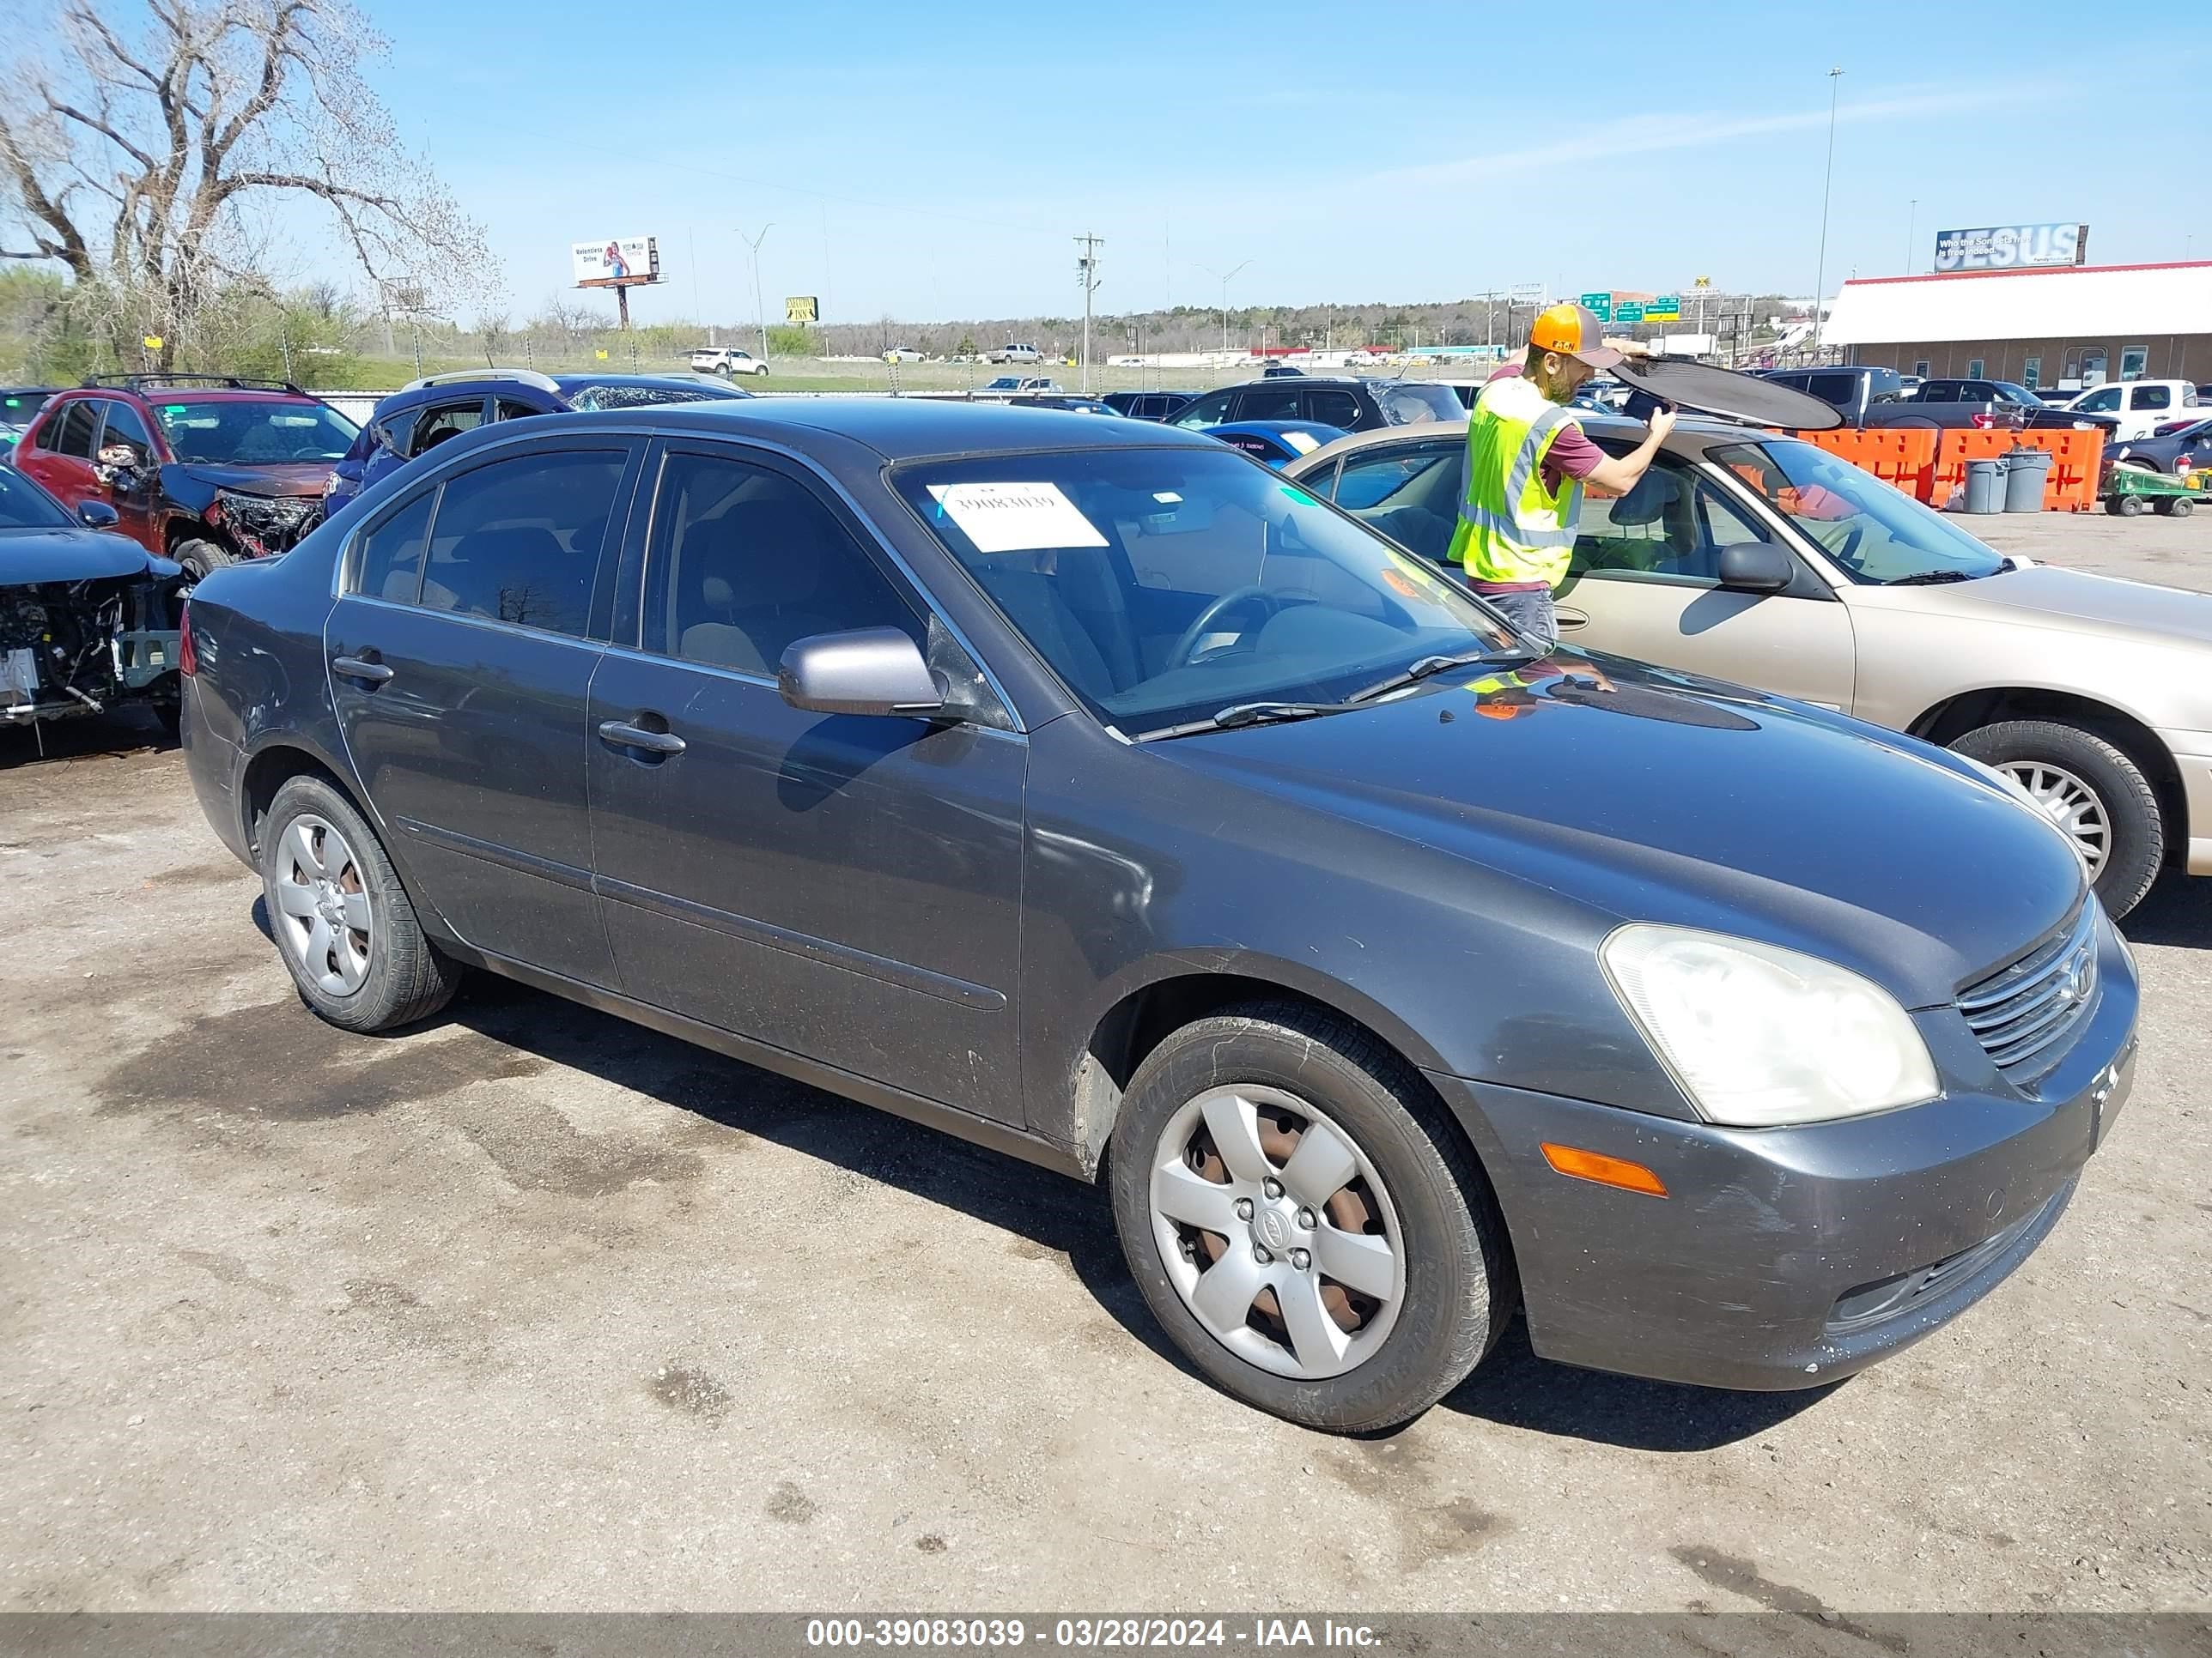
[[[1584,429],[1615,453],[1644,436]],[[1464,422],[1389,427],[1285,475],[1440,562],[1464,449]],[[1559,630],[1984,760],[2112,915],[2166,867],[2212,875],[2212,595],[2006,557],[1814,444],[1686,418],[1628,495],[1584,502]]]

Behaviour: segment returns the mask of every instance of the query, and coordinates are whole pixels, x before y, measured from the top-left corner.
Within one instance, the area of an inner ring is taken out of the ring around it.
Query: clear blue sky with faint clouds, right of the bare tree
[[[2097,263],[2212,256],[2201,168],[2115,141],[2161,104],[2201,133],[2212,49],[2055,0],[365,9],[518,314],[573,239],[650,232],[639,321],[750,318],[734,225],[763,223],[770,312],[814,292],[827,321],[1079,309],[1079,230],[1106,312],[1212,303],[1243,261],[1234,303],[1807,294],[1832,66],[1829,292],[1902,270],[1909,221],[1922,267],[1938,228],[2053,219]]]

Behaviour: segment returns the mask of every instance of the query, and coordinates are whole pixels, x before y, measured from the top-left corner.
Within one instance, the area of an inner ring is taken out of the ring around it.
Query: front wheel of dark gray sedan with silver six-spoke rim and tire
[[[1212,1121],[1248,1130],[1234,1145],[1248,1178]],[[1296,1167],[1290,1147],[1316,1130],[1349,1143],[1336,1167],[1356,1172],[1307,1176],[1305,1192],[1292,1176],[1285,1192],[1274,1174]],[[1307,1428],[1374,1433],[1418,1417],[1484,1360],[1515,1304],[1504,1225],[1455,1127],[1402,1059],[1314,1008],[1230,1008],[1161,1041],[1121,1101],[1108,1183],[1137,1289],[1183,1355],[1232,1397]],[[1243,1189],[1250,1216],[1237,1211]],[[1347,1245],[1354,1236],[1363,1242]],[[1376,1293],[1347,1291],[1325,1258]],[[1230,1267],[1208,1322],[1199,1284]],[[1237,1309],[1248,1282],[1254,1295]]]

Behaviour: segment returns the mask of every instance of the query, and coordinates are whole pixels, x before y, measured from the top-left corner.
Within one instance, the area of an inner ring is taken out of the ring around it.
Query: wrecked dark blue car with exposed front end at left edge
[[[146,703],[177,730],[184,570],[0,466],[0,725]]]

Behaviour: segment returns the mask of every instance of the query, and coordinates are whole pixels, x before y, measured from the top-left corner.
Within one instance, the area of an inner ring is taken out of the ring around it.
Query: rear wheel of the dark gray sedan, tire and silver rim
[[[316,1015],[341,1030],[396,1030],[453,999],[460,966],[422,935],[383,842],[334,787],[303,776],[276,789],[257,862],[276,953]],[[319,871],[332,878],[325,909],[301,913],[301,895],[321,891]],[[367,926],[343,924],[354,917]]]

